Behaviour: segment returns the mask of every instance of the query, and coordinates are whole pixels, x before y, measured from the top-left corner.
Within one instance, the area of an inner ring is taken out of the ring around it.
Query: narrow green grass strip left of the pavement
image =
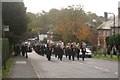
[[[12,65],[13,65],[13,59],[10,58],[6,62],[6,69],[2,69],[2,78],[8,78]]]

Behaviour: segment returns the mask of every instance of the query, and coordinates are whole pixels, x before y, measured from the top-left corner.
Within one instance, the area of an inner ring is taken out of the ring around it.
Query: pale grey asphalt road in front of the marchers
[[[85,58],[85,61],[63,61],[52,56],[48,61],[45,56],[29,53],[29,60],[39,78],[118,78],[118,62]]]

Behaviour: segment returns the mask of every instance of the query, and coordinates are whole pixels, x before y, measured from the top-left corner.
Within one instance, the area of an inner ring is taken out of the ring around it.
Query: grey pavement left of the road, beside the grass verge
[[[28,58],[25,58],[24,56],[19,55],[14,58],[9,78],[21,78],[21,80],[23,80],[23,78],[28,78],[31,80],[38,80],[38,76],[29,61],[29,56]]]

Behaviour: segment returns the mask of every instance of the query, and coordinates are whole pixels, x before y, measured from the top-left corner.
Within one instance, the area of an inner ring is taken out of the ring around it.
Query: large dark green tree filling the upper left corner
[[[16,43],[27,29],[26,8],[23,2],[3,2],[2,22],[9,26],[9,32],[5,36],[10,43]]]

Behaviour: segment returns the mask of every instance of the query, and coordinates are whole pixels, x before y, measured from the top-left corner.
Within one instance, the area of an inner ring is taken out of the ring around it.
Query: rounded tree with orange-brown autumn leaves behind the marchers
[[[80,6],[61,9],[54,18],[56,32],[62,35],[64,42],[85,40],[89,33],[85,21],[86,14]]]

